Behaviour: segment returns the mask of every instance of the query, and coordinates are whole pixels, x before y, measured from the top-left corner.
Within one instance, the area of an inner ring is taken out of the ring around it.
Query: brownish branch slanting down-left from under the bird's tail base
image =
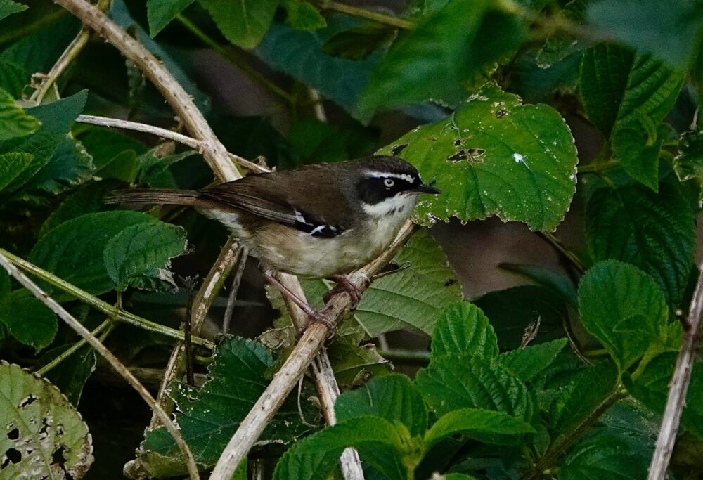
[[[198,294],[195,295],[193,299],[193,309],[191,314],[191,333],[192,335],[198,335],[202,324],[205,323],[205,317],[207,316],[207,311],[209,311],[210,306],[217,293],[222,287],[224,280],[229,275],[234,262],[236,262],[237,254],[239,248],[236,240],[233,238],[228,238],[224,247],[222,247],[219,257],[210,268],[207,277],[200,285]],[[162,379],[161,386],[159,387],[159,393],[157,395],[157,401],[159,405],[167,410],[169,413],[172,412],[174,404],[173,401],[166,394],[167,387],[169,383],[174,380],[180,380],[183,377],[183,371],[185,368],[185,353],[186,346],[183,342],[178,342],[171,352],[171,357],[169,358],[169,363],[166,367],[165,375]],[[152,415],[151,422],[149,424],[150,428],[155,428],[160,422],[160,417],[157,415]]]

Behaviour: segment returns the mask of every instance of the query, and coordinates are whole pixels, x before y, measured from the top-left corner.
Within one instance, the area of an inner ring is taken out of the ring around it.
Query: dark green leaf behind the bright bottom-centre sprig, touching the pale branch
[[[335,401],[340,422],[365,415],[401,422],[410,436],[423,436],[427,430],[427,409],[418,387],[406,375],[373,378]]]

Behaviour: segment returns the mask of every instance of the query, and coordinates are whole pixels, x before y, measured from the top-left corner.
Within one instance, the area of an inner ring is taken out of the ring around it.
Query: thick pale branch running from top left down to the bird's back
[[[100,9],[85,0],[54,0],[95,30],[101,37],[129,58],[172,106],[193,137],[202,142],[202,156],[220,181],[237,180],[242,177],[230,160],[224,145],[217,139],[188,92],[176,82],[165,65],[136,39],[112,22]]]

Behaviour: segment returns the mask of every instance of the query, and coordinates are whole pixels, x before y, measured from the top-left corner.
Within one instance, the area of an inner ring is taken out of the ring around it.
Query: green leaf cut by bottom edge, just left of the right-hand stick
[[[649,457],[632,450],[631,442],[618,436],[598,435],[579,442],[564,458],[561,480],[647,478]]]

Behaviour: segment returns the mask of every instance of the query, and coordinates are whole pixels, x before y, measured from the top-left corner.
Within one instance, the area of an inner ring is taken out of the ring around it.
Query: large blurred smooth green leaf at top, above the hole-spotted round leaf
[[[491,10],[491,4],[452,0],[420,21],[373,70],[359,109],[373,111],[428,98],[449,103],[463,100],[467,92],[461,82],[520,44],[520,22]]]

